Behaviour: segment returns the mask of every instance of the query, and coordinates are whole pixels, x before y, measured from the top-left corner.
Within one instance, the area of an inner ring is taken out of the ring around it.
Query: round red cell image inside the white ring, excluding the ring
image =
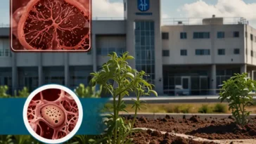
[[[37,93],[27,107],[27,119],[41,137],[56,140],[67,136],[79,117],[75,100],[60,89],[46,89]]]

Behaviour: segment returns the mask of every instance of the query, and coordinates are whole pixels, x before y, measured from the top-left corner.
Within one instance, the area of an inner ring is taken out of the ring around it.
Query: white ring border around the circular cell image
[[[32,100],[32,98],[34,98],[35,95],[37,95],[37,93],[41,92],[41,91],[44,91],[46,89],[60,89],[60,90],[63,90],[65,91],[66,93],[69,93],[70,96],[72,96],[72,98],[74,98],[75,100],[75,103],[77,103],[77,107],[78,107],[78,120],[77,120],[77,124],[75,125],[75,128],[65,137],[63,138],[60,138],[60,139],[56,139],[56,140],[50,140],[50,139],[47,139],[47,138],[43,138],[41,136],[39,136],[33,129],[32,127],[30,126],[29,122],[28,122],[28,119],[27,119],[27,108],[30,104],[30,101]],[[28,96],[26,102],[25,102],[25,105],[23,107],[23,121],[24,121],[24,124],[27,128],[27,131],[30,132],[30,134],[36,138],[37,140],[40,140],[41,142],[43,143],[49,143],[49,144],[57,144],[57,143],[64,143],[65,141],[68,141],[70,138],[72,138],[73,136],[75,136],[75,133],[77,133],[79,127],[81,126],[82,124],[82,119],[83,119],[83,110],[82,110],[82,104],[79,100],[79,98],[77,97],[77,95],[71,91],[70,89],[68,89],[67,87],[65,86],[61,86],[61,85],[58,85],[58,84],[48,84],[48,85],[45,85],[45,86],[41,86],[39,88],[37,88],[36,90],[34,90],[32,93],[30,93],[30,96]]]

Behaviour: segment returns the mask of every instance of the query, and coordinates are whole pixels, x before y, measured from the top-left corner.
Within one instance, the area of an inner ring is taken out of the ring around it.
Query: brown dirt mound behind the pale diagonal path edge
[[[187,135],[211,140],[256,138],[256,119],[251,119],[249,124],[244,127],[238,126],[231,117],[219,120],[213,118],[200,120],[198,116],[188,117],[186,119],[174,119],[173,117],[167,116],[164,119],[151,120],[146,119],[145,117],[140,119],[141,120],[136,122],[136,127],[185,133]],[[153,132],[151,131],[148,135],[151,135],[152,133]],[[164,139],[167,141],[166,139],[170,138],[168,138],[168,136],[162,136],[161,140]]]

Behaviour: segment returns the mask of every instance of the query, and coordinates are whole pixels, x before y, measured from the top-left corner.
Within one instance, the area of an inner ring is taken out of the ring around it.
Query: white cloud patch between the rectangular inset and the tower
[[[122,2],[110,2],[109,0],[93,0],[92,16],[98,18],[124,17],[124,4]]]

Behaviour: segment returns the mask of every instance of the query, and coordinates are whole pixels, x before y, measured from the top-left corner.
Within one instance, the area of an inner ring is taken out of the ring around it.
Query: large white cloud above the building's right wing
[[[191,4],[184,4],[179,8],[182,13],[189,18],[209,18],[216,17],[243,17],[256,26],[256,1],[246,4],[243,0],[218,0],[217,4],[207,4],[203,0],[198,0]]]

